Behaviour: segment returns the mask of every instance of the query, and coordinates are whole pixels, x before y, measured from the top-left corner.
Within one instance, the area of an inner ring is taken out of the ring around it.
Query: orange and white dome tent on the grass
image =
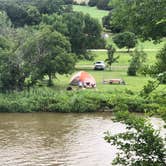
[[[79,85],[81,83],[83,86],[95,87],[95,79],[87,72],[80,71],[76,73],[70,80],[71,85]]]

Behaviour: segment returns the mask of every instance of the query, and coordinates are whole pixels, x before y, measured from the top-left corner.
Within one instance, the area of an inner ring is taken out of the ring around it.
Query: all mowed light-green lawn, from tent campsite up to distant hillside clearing
[[[96,7],[89,7],[89,6],[80,6],[80,5],[73,5],[74,11],[80,11],[84,14],[90,14],[91,17],[96,18],[101,23],[102,17],[108,14],[108,11],[98,10]],[[107,39],[107,44],[113,44],[112,42],[112,34],[109,34],[109,38]],[[166,39],[158,44],[154,44],[152,41],[141,42],[139,41],[137,44],[138,48],[142,48],[147,53],[147,64],[154,64],[156,61],[156,54],[157,52],[163,47],[164,43],[166,43]],[[114,44],[117,52],[115,56],[120,56],[117,63],[112,65],[112,70],[107,68],[104,71],[95,71],[93,70],[93,64],[96,61],[105,61],[107,58],[106,51],[91,51],[89,54],[93,54],[94,60],[87,61],[87,60],[80,60],[76,64],[76,72],[84,70],[89,72],[97,82],[97,90],[98,91],[124,91],[126,89],[132,91],[140,91],[144,85],[147,84],[148,80],[152,80],[150,77],[145,77],[140,74],[138,76],[128,76],[127,75],[127,68],[130,63],[131,55],[126,52],[125,49],[118,49],[117,46]],[[73,74],[74,74],[73,73]],[[70,79],[72,75],[58,75],[57,78],[54,80],[55,89],[57,90],[65,90],[67,86],[69,86]],[[111,79],[111,78],[122,78],[126,82],[126,85],[109,85],[103,84],[103,79]],[[164,90],[165,86],[160,85],[158,90]]]

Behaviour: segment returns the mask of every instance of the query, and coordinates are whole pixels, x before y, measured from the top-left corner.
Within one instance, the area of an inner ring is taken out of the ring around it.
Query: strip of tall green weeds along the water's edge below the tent
[[[31,89],[29,92],[1,94],[0,112],[97,112],[101,110],[153,112],[166,108],[165,101],[165,96],[160,91],[146,99],[129,90],[54,91],[43,87]]]

